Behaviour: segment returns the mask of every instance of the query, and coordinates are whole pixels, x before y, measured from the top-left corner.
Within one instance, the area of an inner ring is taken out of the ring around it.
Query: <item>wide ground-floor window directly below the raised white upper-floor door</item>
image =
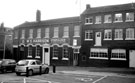
[[[108,49],[91,48],[90,58],[93,59],[108,59]]]

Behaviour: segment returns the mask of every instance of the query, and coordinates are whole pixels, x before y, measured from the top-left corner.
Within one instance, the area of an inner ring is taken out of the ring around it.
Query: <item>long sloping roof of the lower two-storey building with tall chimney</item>
[[[59,19],[51,19],[51,20],[44,20],[40,22],[25,22],[17,27],[34,27],[34,26],[44,26],[44,25],[53,25],[53,24],[63,24],[63,23],[74,23],[79,22],[79,16],[76,17],[67,17],[67,18],[59,18]]]

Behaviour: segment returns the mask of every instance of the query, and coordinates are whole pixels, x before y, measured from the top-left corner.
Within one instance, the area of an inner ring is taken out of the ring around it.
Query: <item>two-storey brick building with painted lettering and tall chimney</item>
[[[79,65],[80,17],[44,21],[40,17],[38,10],[35,22],[14,27],[14,58],[40,59],[48,65]]]

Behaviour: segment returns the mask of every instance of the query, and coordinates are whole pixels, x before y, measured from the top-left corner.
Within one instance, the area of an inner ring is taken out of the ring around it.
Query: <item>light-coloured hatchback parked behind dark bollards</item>
[[[26,69],[27,67],[28,67],[28,71]],[[35,59],[26,59],[26,60],[18,61],[15,71],[16,71],[16,75],[21,75],[21,73],[28,72],[28,75],[31,76],[34,73],[40,73],[40,67],[42,73],[44,74],[49,73],[49,66],[46,64],[42,64],[40,60],[35,60]]]

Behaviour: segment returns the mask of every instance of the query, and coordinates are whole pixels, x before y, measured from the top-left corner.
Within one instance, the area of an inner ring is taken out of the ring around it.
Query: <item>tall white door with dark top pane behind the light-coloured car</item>
[[[49,48],[44,48],[43,63],[50,65]]]

